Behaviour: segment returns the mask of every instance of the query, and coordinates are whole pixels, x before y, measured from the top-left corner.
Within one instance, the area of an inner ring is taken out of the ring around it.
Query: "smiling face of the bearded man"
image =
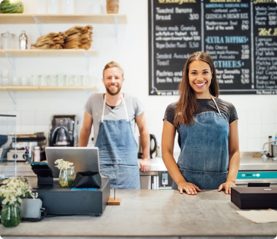
[[[102,81],[106,87],[107,93],[115,96],[120,92],[124,78],[118,67],[110,67],[104,71]]]

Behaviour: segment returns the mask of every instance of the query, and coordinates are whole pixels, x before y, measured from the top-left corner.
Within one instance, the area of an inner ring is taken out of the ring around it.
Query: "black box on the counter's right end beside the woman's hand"
[[[232,187],[231,202],[240,209],[276,209],[277,187]]]

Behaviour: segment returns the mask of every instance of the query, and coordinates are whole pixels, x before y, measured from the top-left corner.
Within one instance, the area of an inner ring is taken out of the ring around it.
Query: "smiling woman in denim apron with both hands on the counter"
[[[201,189],[236,187],[240,165],[238,116],[235,107],[219,98],[213,59],[206,52],[188,58],[179,85],[180,98],[165,112],[163,161],[173,178],[173,189],[189,195]],[[176,163],[174,140],[181,153]]]

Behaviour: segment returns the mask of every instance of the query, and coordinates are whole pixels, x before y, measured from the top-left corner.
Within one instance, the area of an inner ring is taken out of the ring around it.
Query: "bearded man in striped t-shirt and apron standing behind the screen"
[[[94,144],[99,148],[100,172],[111,180],[111,188],[140,189],[139,169],[150,170],[150,135],[141,103],[121,93],[123,69],[108,63],[103,70],[105,94],[92,94],[85,107],[78,146],[87,146],[93,124]],[[138,125],[143,150],[138,164],[134,137]]]

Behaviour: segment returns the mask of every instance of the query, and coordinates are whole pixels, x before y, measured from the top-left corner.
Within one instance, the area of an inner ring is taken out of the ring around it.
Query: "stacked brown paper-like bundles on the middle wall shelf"
[[[48,33],[37,38],[32,48],[39,49],[89,49],[92,42],[92,26],[74,26],[65,32]]]

